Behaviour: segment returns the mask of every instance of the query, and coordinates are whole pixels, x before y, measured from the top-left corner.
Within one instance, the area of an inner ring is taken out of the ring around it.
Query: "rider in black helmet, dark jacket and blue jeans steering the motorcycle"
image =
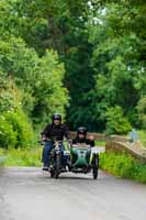
[[[59,113],[54,113],[52,118],[52,123],[47,124],[42,132],[42,140],[45,141],[43,148],[43,170],[48,170],[49,167],[49,154],[54,147],[54,141],[63,141],[64,138],[69,140],[69,131],[66,124],[61,123],[61,116]],[[60,144],[60,152],[64,157],[64,146]]]

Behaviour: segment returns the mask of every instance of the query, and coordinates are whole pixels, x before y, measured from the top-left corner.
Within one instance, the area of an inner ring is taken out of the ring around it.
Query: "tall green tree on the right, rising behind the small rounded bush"
[[[125,4],[109,3],[98,11],[96,20],[90,18],[88,24],[89,42],[93,45],[91,67],[97,81],[89,92],[90,110],[93,120],[97,114],[101,124],[106,123],[108,109],[117,105],[128,121],[137,125],[136,106],[146,91],[145,64],[139,51],[142,41],[134,30],[126,32],[127,14]]]

